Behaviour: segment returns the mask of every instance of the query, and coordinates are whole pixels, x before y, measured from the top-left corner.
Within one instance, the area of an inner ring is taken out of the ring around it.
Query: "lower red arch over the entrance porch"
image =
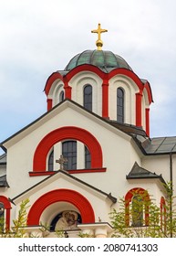
[[[39,225],[40,216],[44,209],[58,201],[69,202],[78,208],[82,223],[95,222],[94,210],[86,197],[83,197],[81,194],[74,190],[56,189],[47,192],[45,195],[39,197],[36,200],[32,208],[29,210],[27,225]]]

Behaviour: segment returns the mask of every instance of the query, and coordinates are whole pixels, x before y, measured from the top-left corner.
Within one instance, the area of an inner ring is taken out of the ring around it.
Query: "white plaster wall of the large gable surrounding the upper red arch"
[[[42,123],[42,121],[40,122]],[[89,119],[88,116],[67,108],[62,112],[57,112],[56,116],[49,121],[43,121],[41,126],[37,123],[37,127],[33,127],[34,130],[26,134],[23,139],[16,141],[14,145],[9,145],[7,180],[10,185],[9,191],[12,191],[12,194],[9,192],[10,195],[13,197],[18,195],[44,178],[43,176],[29,177],[28,175],[28,172],[33,169],[36,146],[47,133],[70,125],[86,129],[97,138],[103,152],[103,167],[107,167],[106,173],[77,176],[107,192],[117,193],[119,187],[124,187],[122,180],[129,173],[131,165],[137,157],[136,153],[131,153],[134,148],[130,144],[130,137],[106,123],[104,125],[100,121],[95,123],[95,120]],[[20,136],[22,134],[19,134]],[[139,157],[137,160],[139,162]],[[101,183],[99,183],[99,177],[101,177]]]

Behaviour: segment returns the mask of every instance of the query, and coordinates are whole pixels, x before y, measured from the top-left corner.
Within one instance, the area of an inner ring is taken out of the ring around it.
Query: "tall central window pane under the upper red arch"
[[[66,141],[62,143],[62,155],[67,159],[64,164],[66,170],[77,169],[77,141]]]

